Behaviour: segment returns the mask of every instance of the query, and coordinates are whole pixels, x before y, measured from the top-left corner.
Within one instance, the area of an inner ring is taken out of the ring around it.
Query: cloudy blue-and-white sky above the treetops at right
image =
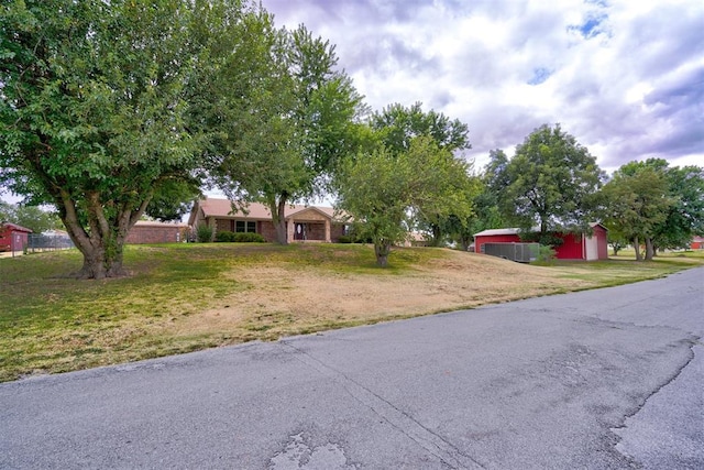
[[[337,46],[374,110],[416,101],[488,151],[560,123],[609,173],[662,157],[704,166],[701,0],[262,0]]]

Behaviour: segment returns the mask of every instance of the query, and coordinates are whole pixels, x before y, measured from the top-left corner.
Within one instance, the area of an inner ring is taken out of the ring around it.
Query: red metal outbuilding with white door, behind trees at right
[[[556,248],[558,260],[607,260],[608,244],[606,242],[606,227],[601,223],[591,225],[593,233],[562,233],[559,237],[563,242]],[[519,229],[492,229],[474,234],[474,251],[484,253],[484,243],[518,243],[520,242]]]

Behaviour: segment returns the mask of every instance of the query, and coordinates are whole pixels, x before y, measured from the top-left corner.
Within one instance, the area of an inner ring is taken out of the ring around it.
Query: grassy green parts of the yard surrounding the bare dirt
[[[316,289],[324,288],[321,284],[326,278],[336,276],[403,286],[410,276],[418,280],[432,274],[428,274],[427,266],[432,265],[433,260],[450,255],[473,256],[472,271],[480,271],[481,263],[491,263],[483,261],[486,258],[482,255],[422,248],[395,250],[389,259],[392,267],[382,270],[375,266],[373,250],[365,245],[132,245],[125,250],[130,277],[75,281],[65,275],[80,267],[81,256],[77,251],[0,259],[0,381],[272,339],[272,332],[267,331],[272,321],[286,317],[286,321],[295,324],[301,319],[258,307],[251,315],[248,313],[241,325],[228,324],[226,328],[204,320],[201,327],[194,330],[177,327],[190,325],[188,319],[199,318],[213,306],[229,307],[229,299],[238,294],[256,298],[267,292],[290,289],[290,280],[301,270],[322,280],[319,285],[310,286],[310,293],[298,293],[312,296]],[[595,263],[556,262],[547,267],[516,265],[516,269],[520,267],[520,275],[525,275],[526,269],[540,270],[542,275],[547,273],[554,282],[564,284],[564,287],[551,286],[536,294],[544,295],[653,278],[701,264],[704,264],[704,252],[669,254],[650,263],[619,256]],[[271,277],[258,281],[257,273],[266,269],[284,273],[280,282],[272,283]],[[436,274],[442,276],[440,271]],[[468,272],[468,276],[473,274]],[[517,283],[520,275],[516,275]],[[480,303],[492,302],[495,300],[486,298]],[[457,307],[462,306],[458,300]],[[419,307],[407,316],[427,311],[428,308]],[[361,321],[319,314],[311,307],[307,313],[310,318],[300,326],[293,325],[286,334],[340,328]]]

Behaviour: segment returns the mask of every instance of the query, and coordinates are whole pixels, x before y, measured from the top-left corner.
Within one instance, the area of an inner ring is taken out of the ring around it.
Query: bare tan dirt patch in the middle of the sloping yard
[[[403,276],[342,274],[305,266],[266,266],[235,273],[250,287],[221,305],[183,318],[177,334],[256,331],[267,339],[475,307],[588,286],[557,278],[547,267],[448,251]]]

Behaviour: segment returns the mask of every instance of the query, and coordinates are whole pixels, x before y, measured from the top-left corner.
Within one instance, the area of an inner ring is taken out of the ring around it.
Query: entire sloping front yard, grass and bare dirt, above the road
[[[76,251],[0,259],[0,381],[272,340],[531,296],[659,277],[704,264],[517,264],[442,249],[398,249],[391,269],[370,247],[128,247],[132,275],[63,277]]]

